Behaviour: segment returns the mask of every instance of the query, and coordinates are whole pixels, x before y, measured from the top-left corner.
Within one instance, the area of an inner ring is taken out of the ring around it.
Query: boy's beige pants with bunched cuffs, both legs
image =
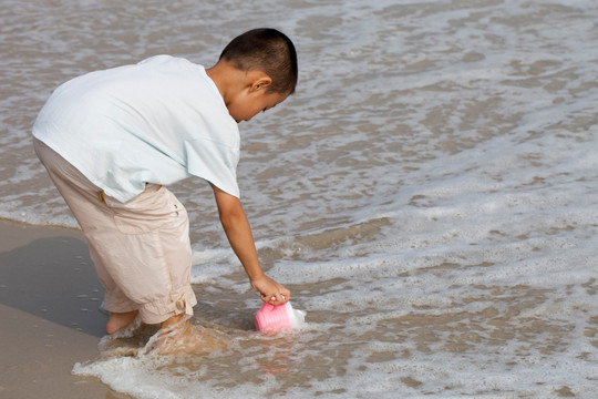
[[[121,203],[34,139],[38,157],[71,208],[90,247],[109,311],[140,310],[158,324],[197,304],[189,284],[192,250],[185,207],[161,185],[147,184]]]

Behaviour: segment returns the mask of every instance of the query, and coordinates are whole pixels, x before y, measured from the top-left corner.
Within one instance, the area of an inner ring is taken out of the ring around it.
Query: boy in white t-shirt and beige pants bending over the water
[[[87,239],[111,313],[107,334],[137,315],[162,328],[193,315],[187,213],[164,187],[190,175],[212,185],[252,288],[272,305],[289,300],[264,274],[239,201],[237,123],[281,103],[297,75],[292,42],[255,29],[209,69],[157,55],[52,93],[33,126],[34,147]]]

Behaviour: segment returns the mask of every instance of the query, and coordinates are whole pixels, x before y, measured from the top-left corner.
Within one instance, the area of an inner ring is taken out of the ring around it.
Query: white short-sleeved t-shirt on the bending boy
[[[204,66],[185,59],[156,55],[62,84],[33,135],[121,202],[189,175],[239,196],[237,123]]]

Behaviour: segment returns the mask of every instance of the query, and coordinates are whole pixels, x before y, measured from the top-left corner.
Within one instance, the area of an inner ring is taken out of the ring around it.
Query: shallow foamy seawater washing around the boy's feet
[[[171,187],[194,243],[193,323],[228,349],[104,340],[74,366],[135,398],[598,397],[598,3],[592,0],[4,0],[0,216],[74,226],[30,143],[51,91],[168,53],[209,66],[269,25],[297,93],[243,123],[260,301],[207,185]],[[115,350],[118,349],[118,350]]]

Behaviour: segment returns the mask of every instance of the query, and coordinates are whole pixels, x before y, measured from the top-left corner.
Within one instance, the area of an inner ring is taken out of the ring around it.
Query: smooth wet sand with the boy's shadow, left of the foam
[[[106,317],[76,231],[0,223],[0,397],[128,398],[71,375],[97,356]]]

